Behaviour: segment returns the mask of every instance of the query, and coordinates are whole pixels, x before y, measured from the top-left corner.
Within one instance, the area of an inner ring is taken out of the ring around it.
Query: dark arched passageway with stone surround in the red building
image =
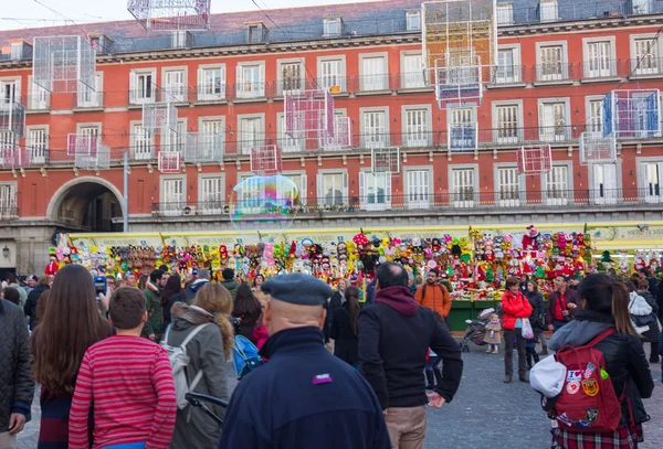
[[[110,182],[93,177],[73,179],[53,194],[46,216],[69,232],[122,232],[123,196]]]

